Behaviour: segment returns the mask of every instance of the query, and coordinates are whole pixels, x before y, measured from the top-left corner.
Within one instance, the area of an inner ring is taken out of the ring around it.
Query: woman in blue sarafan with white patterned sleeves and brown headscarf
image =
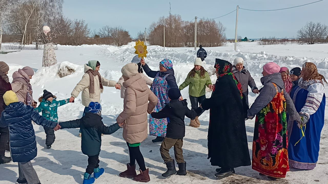
[[[319,156],[320,134],[324,124],[326,97],[323,82],[313,63],[303,64],[297,88],[291,97],[302,122],[288,121],[288,156],[291,167],[311,170]]]

